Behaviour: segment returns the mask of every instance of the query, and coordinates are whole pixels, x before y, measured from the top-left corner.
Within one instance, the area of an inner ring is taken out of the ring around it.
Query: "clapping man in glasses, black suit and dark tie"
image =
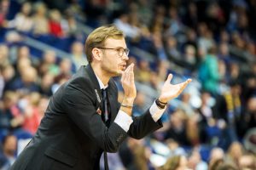
[[[11,169],[95,170],[99,169],[103,151],[108,169],[106,152],[116,152],[128,135],[142,139],[162,127],[160,116],[166,103],[191,81],[172,85],[172,75],[169,75],[160,98],[143,116],[132,118],[137,90],[134,65],[126,68],[129,49],[123,32],[115,26],[97,28],[87,37],[85,54],[89,65],[81,66],[55,92],[38,132]],[[124,99],[119,105],[112,77],[120,75]]]

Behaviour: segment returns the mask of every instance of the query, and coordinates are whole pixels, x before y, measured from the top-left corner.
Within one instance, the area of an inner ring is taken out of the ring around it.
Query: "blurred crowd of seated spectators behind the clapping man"
[[[1,0],[0,169],[36,133],[51,95],[88,64],[81,27],[105,24],[124,31],[131,48],[134,116],[168,73],[172,83],[193,79],[168,104],[163,128],[108,154],[110,169],[256,169],[255,18],[254,0]]]

